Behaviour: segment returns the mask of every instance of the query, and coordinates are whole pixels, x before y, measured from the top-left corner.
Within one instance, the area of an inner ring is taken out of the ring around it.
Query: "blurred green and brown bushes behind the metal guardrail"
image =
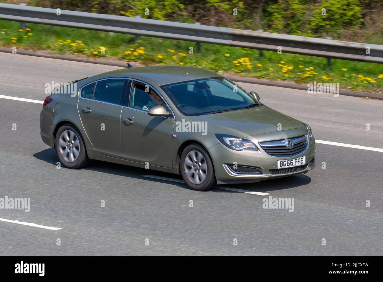
[[[1,0],[0,0],[1,1]],[[61,8],[156,20],[334,39],[381,41],[381,0],[25,0],[31,6]],[[233,15],[233,9],[237,15]],[[149,9],[149,15],[145,14]],[[326,9],[326,15],[323,10]],[[374,42],[371,42],[374,43]]]

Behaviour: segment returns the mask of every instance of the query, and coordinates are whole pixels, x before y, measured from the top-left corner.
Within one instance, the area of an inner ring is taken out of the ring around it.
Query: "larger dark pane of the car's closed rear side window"
[[[93,99],[119,105],[125,82],[126,79],[106,79],[97,81]]]

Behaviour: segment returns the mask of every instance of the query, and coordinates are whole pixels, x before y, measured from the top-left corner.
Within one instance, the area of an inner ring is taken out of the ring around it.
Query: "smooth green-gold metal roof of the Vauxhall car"
[[[158,85],[172,84],[195,79],[218,77],[219,75],[206,69],[191,66],[143,66],[134,68],[117,69],[104,74],[118,74],[118,76],[132,77],[140,76],[150,79]]]

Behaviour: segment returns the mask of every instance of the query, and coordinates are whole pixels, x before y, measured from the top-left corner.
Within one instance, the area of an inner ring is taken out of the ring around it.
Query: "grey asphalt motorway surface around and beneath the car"
[[[0,53],[0,198],[31,199],[29,212],[0,209],[0,254],[383,254],[379,150],[317,143],[317,166],[306,175],[205,192],[187,189],[177,175],[106,162],[57,169],[54,149],[40,138],[42,105],[4,96],[41,101],[52,80],[113,69]],[[238,84],[311,125],[317,140],[383,148],[383,101]],[[269,196],[294,199],[294,211],[262,208]]]

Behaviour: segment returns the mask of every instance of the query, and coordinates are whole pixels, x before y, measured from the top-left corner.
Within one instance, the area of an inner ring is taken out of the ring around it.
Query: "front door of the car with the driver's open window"
[[[153,87],[132,81],[129,100],[121,112],[121,157],[159,167],[172,167],[174,117],[157,117],[147,112],[154,106],[169,106]]]

